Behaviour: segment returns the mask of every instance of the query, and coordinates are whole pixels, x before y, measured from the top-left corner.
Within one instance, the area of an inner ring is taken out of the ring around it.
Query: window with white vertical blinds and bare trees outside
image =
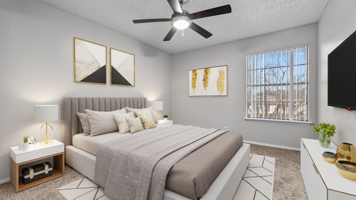
[[[308,121],[308,46],[248,54],[246,61],[247,119]]]

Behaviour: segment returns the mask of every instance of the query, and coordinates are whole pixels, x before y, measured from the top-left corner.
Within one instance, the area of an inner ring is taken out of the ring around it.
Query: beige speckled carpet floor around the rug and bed
[[[251,153],[276,158],[273,199],[308,199],[300,170],[300,151],[251,145]],[[17,193],[10,182],[0,184],[0,199],[64,199],[57,188],[82,177],[66,166],[65,176]]]

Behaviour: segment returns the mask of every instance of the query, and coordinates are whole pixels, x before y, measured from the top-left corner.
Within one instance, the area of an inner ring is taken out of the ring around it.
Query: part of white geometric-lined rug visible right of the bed
[[[272,199],[275,158],[251,154],[250,163],[233,200]]]

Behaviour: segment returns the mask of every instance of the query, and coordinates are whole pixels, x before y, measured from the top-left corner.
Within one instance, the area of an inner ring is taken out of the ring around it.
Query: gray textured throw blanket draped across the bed
[[[94,182],[112,199],[162,199],[172,166],[225,132],[173,125],[104,143],[98,149]]]

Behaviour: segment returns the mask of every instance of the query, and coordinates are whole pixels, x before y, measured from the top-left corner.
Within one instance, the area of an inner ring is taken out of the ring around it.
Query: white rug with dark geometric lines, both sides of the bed
[[[272,199],[275,158],[251,154],[250,163],[233,200]],[[108,199],[104,188],[84,177],[57,189],[68,200]]]

